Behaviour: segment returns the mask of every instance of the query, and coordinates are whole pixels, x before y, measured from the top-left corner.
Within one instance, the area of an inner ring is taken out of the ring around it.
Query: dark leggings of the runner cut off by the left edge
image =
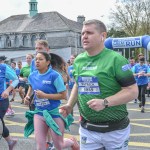
[[[4,130],[3,130],[3,138],[6,138],[9,136],[9,130],[8,128],[5,126],[5,122],[3,120],[5,113],[8,109],[9,106],[9,100],[5,99],[5,100],[0,100],[0,118],[2,119],[2,122],[4,123]]]

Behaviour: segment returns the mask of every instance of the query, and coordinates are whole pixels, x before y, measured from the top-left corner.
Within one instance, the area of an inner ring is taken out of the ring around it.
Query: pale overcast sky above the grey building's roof
[[[29,14],[30,0],[3,0],[0,21],[12,15]],[[116,0],[37,0],[38,13],[57,11],[68,19],[77,20],[83,15],[86,20],[98,19],[109,24],[108,15]]]

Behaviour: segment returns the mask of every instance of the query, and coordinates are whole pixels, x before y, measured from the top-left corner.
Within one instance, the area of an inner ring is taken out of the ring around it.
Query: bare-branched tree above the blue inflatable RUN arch
[[[122,29],[129,36],[150,34],[149,0],[126,0],[116,3],[110,18],[117,29]],[[116,24],[114,24],[114,22]]]

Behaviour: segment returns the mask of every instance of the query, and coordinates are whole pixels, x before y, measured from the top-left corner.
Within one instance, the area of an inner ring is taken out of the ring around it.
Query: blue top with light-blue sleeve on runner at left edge
[[[1,94],[6,90],[6,82],[8,80],[12,80],[11,86],[13,87],[16,87],[19,82],[15,71],[10,66],[0,64],[0,100],[4,100]]]

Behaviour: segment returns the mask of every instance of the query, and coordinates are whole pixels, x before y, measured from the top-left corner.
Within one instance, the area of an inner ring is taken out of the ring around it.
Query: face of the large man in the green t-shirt
[[[97,50],[101,46],[102,35],[95,24],[84,25],[82,28],[82,45],[85,50]]]

